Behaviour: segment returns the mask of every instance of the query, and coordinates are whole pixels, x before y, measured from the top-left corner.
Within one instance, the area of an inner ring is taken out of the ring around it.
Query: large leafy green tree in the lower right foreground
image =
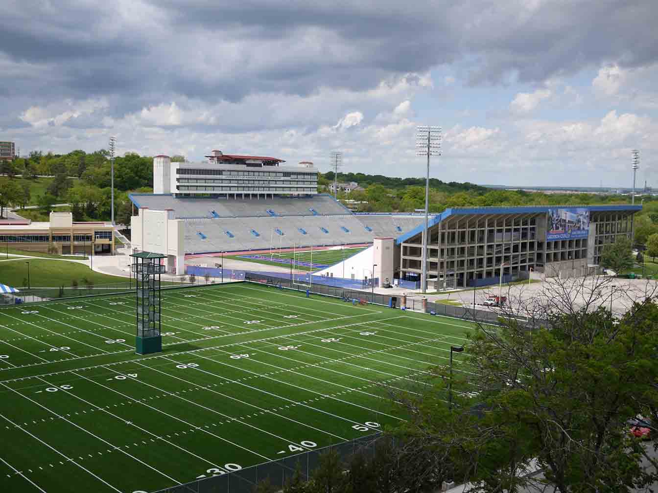
[[[657,408],[658,306],[638,298],[613,323],[604,308],[611,279],[572,283],[557,281],[545,300],[515,302],[496,330],[482,325],[468,335],[452,408],[445,366],[432,385],[398,399],[413,410],[401,428],[406,453],[426,454],[407,460],[415,477],[452,469],[483,493],[541,486],[519,474],[532,467],[561,493],[630,493],[657,479],[657,463],[626,422]],[[574,308],[572,290],[584,289],[592,296]],[[517,310],[538,319],[520,323],[509,317]]]

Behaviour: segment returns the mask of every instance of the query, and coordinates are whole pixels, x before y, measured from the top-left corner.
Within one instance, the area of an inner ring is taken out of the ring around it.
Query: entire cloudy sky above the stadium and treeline
[[[253,153],[445,181],[658,187],[655,0],[3,0],[21,154]]]

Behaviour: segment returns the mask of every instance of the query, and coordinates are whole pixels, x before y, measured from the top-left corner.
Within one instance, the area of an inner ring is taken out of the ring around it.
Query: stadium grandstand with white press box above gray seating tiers
[[[173,267],[182,265],[185,254],[370,244],[375,237],[409,233],[423,221],[419,214],[354,214],[317,193],[311,162],[283,166],[278,158],[220,151],[207,158],[154,158],[157,193],[130,195],[137,210],[131,220],[134,248],[166,254]]]

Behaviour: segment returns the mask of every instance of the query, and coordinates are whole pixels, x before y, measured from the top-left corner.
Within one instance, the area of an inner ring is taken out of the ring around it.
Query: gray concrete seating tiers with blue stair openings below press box
[[[408,233],[424,221],[413,215],[352,214],[324,194],[228,200],[136,194],[132,200],[140,208],[170,209],[184,219],[188,253],[372,243],[374,237]]]

